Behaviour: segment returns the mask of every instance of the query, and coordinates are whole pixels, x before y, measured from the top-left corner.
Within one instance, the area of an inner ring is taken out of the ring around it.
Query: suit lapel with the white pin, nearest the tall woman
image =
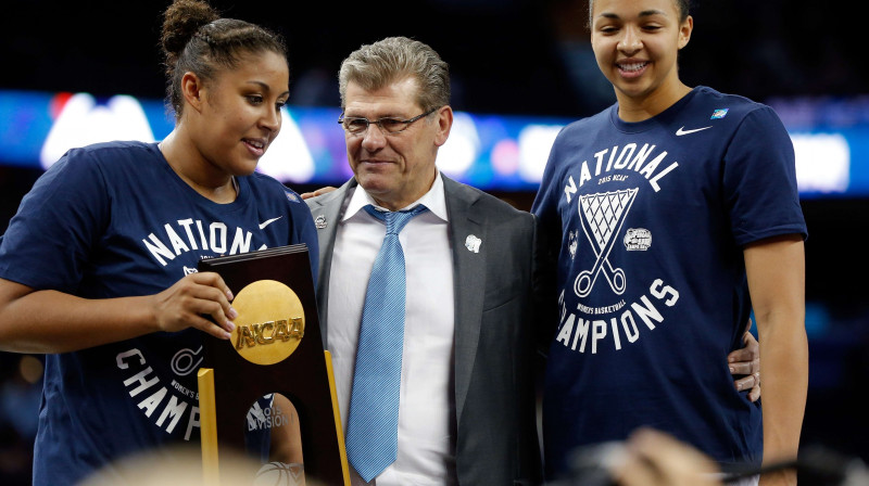
[[[465,246],[468,236],[486,241],[486,228],[479,212],[471,213],[478,195],[468,188],[443,177],[446,213],[450,217],[450,243],[453,247],[453,291],[455,293],[455,407],[456,421],[467,397],[474,360],[480,338],[482,302],[486,290],[486,245],[479,253]]]

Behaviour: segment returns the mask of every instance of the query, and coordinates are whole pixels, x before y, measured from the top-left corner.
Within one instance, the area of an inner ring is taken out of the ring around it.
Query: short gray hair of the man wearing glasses
[[[406,37],[388,37],[362,46],[341,63],[338,91],[345,106],[347,86],[353,81],[366,91],[414,77],[416,101],[428,112],[450,104],[450,66],[428,44]]]

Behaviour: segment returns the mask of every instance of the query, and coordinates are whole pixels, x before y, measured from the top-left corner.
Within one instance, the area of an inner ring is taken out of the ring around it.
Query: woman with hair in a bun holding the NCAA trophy
[[[254,171],[289,98],[282,39],[177,0],[162,44],[174,130],[70,150],[0,240],[0,349],[46,354],[35,485],[198,447],[203,333],[229,337],[239,291],[200,259],[306,243],[317,273],[307,206]]]

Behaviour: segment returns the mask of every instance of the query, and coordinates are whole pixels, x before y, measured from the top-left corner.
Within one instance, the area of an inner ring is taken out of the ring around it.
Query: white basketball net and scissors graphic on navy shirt
[[[626,189],[579,196],[579,220],[597,259],[594,260],[591,270],[582,270],[577,276],[574,292],[578,296],[584,297],[591,293],[601,272],[613,292],[619,295],[625,292],[625,271],[613,268],[609,263],[609,252],[613,251],[615,236],[621,231],[621,225],[633,204],[637,191],[638,189]]]

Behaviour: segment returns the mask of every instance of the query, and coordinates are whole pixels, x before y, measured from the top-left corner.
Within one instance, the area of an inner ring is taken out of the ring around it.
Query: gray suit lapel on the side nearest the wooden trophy
[[[329,305],[329,278],[332,267],[332,251],[335,250],[335,235],[343,216],[342,207],[348,190],[356,186],[356,179],[350,179],[339,189],[307,201],[311,216],[317,227],[317,241],[319,245],[319,272],[317,274],[317,308],[319,327],[323,335],[323,347],[328,349],[328,305]]]

